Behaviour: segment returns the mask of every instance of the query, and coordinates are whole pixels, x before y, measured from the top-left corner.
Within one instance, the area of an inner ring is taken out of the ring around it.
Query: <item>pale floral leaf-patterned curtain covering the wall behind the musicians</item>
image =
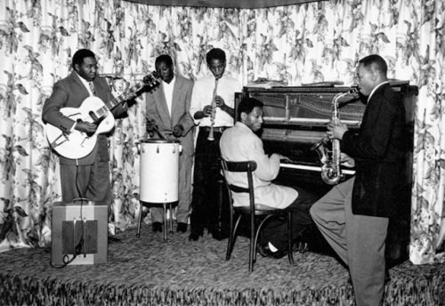
[[[2,0],[0,3],[0,251],[44,246],[61,199],[58,157],[41,109],[69,74],[79,48],[96,53],[116,94],[142,80],[161,53],[177,72],[206,73],[212,47],[247,85],[259,77],[302,85],[352,85],[357,60],[379,53],[389,76],[417,85],[410,260],[443,259],[445,238],[445,4],[441,0],[331,0],[268,9],[149,6],[122,0]],[[140,209],[143,96],[109,139],[114,229],[134,227]]]

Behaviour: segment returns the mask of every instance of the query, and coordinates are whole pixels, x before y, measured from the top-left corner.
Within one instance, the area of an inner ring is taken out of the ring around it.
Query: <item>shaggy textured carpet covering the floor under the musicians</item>
[[[348,272],[332,257],[295,253],[258,255],[249,273],[248,239],[239,237],[231,261],[227,240],[206,234],[152,233],[130,229],[109,245],[107,263],[50,266],[51,247],[0,254],[0,305],[353,305]],[[385,305],[445,305],[444,265],[403,262],[390,270]]]

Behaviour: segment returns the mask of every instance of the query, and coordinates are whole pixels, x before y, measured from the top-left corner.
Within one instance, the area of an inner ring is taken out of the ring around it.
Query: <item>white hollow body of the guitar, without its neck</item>
[[[80,119],[84,122],[93,123],[95,120],[90,116],[90,111],[101,109],[104,106],[105,103],[98,97],[89,97],[85,99],[79,108],[63,108],[61,113],[74,121]],[[97,135],[109,132],[115,124],[115,118],[110,112],[105,113],[100,119],[101,121],[93,135],[87,135],[77,130],[64,134],[54,125],[46,125],[46,138],[53,149],[62,157],[71,159],[86,157],[93,151]]]

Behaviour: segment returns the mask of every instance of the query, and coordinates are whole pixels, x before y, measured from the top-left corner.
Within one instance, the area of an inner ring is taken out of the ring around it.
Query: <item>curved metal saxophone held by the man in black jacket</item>
[[[338,100],[347,94],[358,93],[357,88],[352,88],[349,92],[338,93],[332,101],[333,111],[331,123],[333,125],[340,125],[340,115],[338,113]],[[340,160],[340,141],[333,138],[332,151],[329,152],[326,146],[326,139],[322,139],[312,146],[312,150],[316,150],[321,161],[321,179],[329,185],[335,185],[340,180],[344,179],[342,173]],[[329,155],[330,153],[330,155]]]

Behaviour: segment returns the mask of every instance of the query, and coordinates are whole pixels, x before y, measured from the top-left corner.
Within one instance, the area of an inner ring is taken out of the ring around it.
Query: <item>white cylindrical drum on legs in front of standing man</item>
[[[140,141],[140,200],[148,203],[178,201],[181,141],[143,139]]]

